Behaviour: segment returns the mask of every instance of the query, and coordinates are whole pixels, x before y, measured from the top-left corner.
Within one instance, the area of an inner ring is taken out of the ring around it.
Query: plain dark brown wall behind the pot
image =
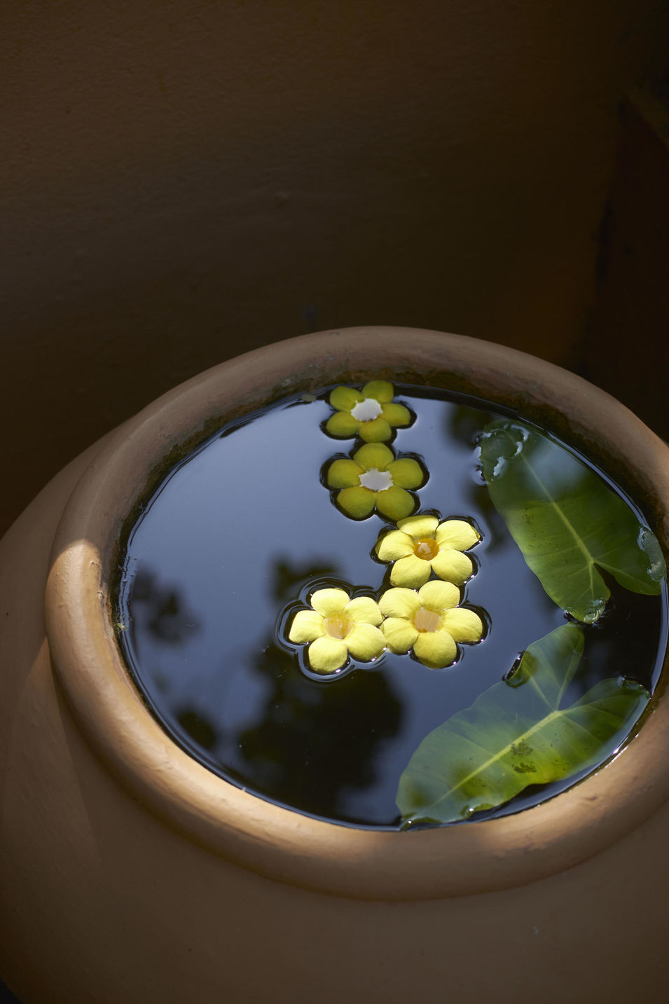
[[[186,376],[362,323],[574,361],[659,0],[37,0],[0,23],[13,473]]]

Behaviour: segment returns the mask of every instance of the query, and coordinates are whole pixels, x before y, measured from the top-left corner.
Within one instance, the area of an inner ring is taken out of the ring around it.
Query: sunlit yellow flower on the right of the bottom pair
[[[460,590],[452,582],[432,579],[415,589],[389,589],[379,600],[386,619],[382,624],[391,652],[414,655],[431,670],[450,666],[457,657],[456,642],[473,644],[483,634],[481,618],[458,606]]]

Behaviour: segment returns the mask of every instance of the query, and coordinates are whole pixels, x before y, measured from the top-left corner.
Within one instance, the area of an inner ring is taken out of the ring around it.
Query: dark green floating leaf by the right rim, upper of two
[[[599,569],[632,592],[657,594],[666,565],[660,545],[606,482],[568,450],[519,422],[483,432],[481,464],[490,498],[550,598],[593,623],[611,595]]]

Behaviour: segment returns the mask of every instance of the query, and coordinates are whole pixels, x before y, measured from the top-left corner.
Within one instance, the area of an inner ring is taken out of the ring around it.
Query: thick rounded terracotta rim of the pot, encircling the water
[[[339,896],[422,900],[524,885],[621,839],[669,797],[669,704],[575,787],[514,815],[412,832],[359,829],[264,801],[199,764],[160,728],[116,641],[109,579],[138,499],[166,463],[230,418],[299,391],[371,378],[485,398],[550,429],[633,495],[669,554],[669,451],[581,378],[502,345],[414,328],[356,327],[247,352],[181,385],[113,434],[63,511],[45,613],[51,662],[107,770],[163,822],[270,878]],[[663,678],[666,676],[666,663]]]

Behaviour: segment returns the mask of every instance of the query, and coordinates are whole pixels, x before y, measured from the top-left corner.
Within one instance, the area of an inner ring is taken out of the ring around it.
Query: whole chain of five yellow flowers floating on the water
[[[342,588],[321,588],[311,594],[307,608],[292,616],[288,641],[308,647],[308,665],[318,674],[338,673],[350,657],[373,662],[386,651],[412,652],[424,666],[442,669],[455,662],[458,645],[473,645],[483,636],[478,613],[460,604],[460,586],[474,570],[465,552],[480,534],[463,519],[412,515],[418,505],[412,491],[423,487],[428,475],[415,457],[397,457],[386,445],[396,428],[413,419],[394,397],[387,381],[371,381],[360,392],[338,387],[329,396],[334,412],[325,432],[365,441],[351,456],[336,457],[326,466],[332,501],[352,519],[367,519],[376,510],[397,528],[382,531],[375,545],[379,560],[391,566],[391,588],[378,602],[369,595],[352,598]]]

